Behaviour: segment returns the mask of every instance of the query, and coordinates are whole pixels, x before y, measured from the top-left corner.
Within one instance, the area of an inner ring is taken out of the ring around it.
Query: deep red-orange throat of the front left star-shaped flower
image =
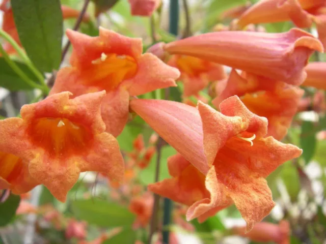
[[[39,118],[29,129],[33,143],[51,157],[82,154],[93,137],[86,127],[67,118]]]

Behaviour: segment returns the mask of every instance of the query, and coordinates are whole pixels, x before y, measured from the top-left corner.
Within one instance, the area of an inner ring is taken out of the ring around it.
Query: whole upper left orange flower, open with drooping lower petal
[[[101,116],[106,131],[118,136],[129,114],[129,96],[176,86],[180,72],[151,53],[142,54],[142,40],[129,38],[100,27],[99,37],[70,29],[73,46],[71,67],[58,72],[50,94],[63,91],[79,96],[106,90]]]

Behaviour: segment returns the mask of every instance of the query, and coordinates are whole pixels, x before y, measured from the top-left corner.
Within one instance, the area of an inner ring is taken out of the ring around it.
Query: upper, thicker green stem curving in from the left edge
[[[44,76],[41,74],[41,72],[38,71],[38,69],[33,65],[30,58],[26,55],[26,53],[23,51],[23,49],[18,45],[17,42],[3,29],[0,29],[0,36],[4,38],[18,53],[18,55],[24,60],[25,64],[30,68],[30,70],[35,74],[35,76],[39,79],[41,84],[46,86],[44,82]]]

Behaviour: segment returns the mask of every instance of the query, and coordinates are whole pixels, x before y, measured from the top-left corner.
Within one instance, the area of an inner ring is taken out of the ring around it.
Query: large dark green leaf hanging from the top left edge
[[[22,46],[42,72],[58,69],[61,62],[63,18],[59,0],[12,0]]]

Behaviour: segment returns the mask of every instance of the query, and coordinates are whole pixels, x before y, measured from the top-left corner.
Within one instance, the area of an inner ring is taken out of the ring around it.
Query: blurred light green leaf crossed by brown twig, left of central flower
[[[176,154],[176,150],[172,146],[164,146],[161,149],[161,160],[159,170],[159,180],[170,178],[168,170],[168,158]],[[155,169],[156,169],[156,157],[155,154],[149,164],[149,166],[140,172],[140,180],[145,184],[151,184],[154,182]]]

